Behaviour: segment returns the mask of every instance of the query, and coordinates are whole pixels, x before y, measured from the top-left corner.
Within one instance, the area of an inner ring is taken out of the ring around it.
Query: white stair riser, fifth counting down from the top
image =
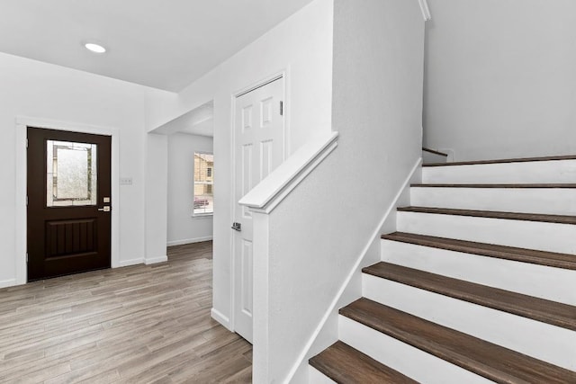
[[[576,332],[372,275],[364,297],[536,359],[576,370]]]

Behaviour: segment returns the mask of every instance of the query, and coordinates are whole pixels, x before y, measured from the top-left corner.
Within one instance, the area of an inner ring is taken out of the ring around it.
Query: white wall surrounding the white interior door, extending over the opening
[[[332,3],[315,0],[240,50],[178,97],[149,103],[148,130],[194,108],[214,102],[213,308],[231,313],[231,129],[232,95],[267,76],[287,71],[286,112],[289,147],[300,147],[311,135],[330,129],[332,103]],[[420,16],[421,17],[421,16]],[[229,324],[226,324],[229,326]]]

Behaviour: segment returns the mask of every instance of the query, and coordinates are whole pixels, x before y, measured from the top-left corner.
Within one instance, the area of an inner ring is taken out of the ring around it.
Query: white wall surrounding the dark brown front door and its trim
[[[120,175],[133,184],[120,187],[120,263],[144,258],[144,138],[146,99],[160,91],[111,78],[0,54],[0,285],[14,284],[17,258],[14,222],[15,119],[63,121],[119,129]],[[19,148],[18,150],[22,150]],[[20,245],[22,246],[22,245]]]

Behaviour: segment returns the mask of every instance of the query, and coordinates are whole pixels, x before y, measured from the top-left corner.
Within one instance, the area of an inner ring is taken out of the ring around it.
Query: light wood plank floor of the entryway
[[[211,266],[206,242],[0,290],[0,382],[251,382],[251,345],[210,317]]]

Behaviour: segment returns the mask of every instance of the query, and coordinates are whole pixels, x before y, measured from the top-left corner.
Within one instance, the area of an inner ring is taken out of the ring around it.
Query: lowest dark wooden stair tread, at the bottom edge
[[[340,341],[312,357],[309,363],[338,383],[417,383]]]

